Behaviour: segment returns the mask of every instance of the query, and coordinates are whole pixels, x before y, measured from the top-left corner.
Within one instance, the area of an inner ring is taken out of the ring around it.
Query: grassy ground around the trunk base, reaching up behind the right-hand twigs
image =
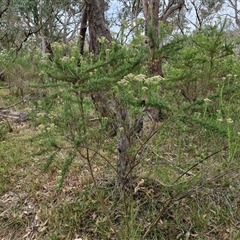
[[[17,100],[5,90],[0,99],[2,106]],[[17,108],[25,109],[26,103]],[[38,154],[41,122],[1,119],[0,239],[134,240],[146,233],[144,239],[240,239],[239,151],[231,149],[238,138],[229,142],[214,117],[188,121],[173,117],[157,123],[158,134],[140,153],[144,161],[136,168],[133,194],[122,199],[115,172],[103,158],[115,164],[116,153],[110,151],[115,139],[101,138],[103,157],[91,161],[96,186],[79,154],[59,189],[69,146],[46,170],[51,151]],[[149,131],[151,123],[146,124]],[[234,124],[237,131],[237,119]]]

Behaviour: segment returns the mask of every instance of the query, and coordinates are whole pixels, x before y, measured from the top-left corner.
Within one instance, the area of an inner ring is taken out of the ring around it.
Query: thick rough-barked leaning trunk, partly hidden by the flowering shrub
[[[105,37],[107,41],[112,41],[112,36],[104,19],[104,0],[85,0],[85,3],[90,36],[89,51],[97,55],[100,52],[99,38]],[[86,22],[83,19],[82,30],[84,30],[85,25]],[[130,124],[128,109],[110,93],[95,92],[91,97],[96,110],[102,117],[107,117],[110,120],[111,134],[118,134],[116,187],[122,193],[129,189],[129,186],[131,187],[131,173],[134,163],[131,160],[129,150],[132,147],[135,132],[141,131],[141,124],[139,124],[141,121],[137,121],[138,124],[134,130]]]

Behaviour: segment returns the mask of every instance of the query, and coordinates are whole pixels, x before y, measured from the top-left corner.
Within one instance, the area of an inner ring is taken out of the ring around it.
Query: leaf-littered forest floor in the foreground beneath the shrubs
[[[24,106],[20,111],[25,111]],[[73,164],[58,189],[61,162],[43,171],[33,122],[5,116],[0,126],[1,240],[117,239],[116,231],[119,239],[137,240],[157,216],[161,217],[146,239],[240,239],[239,168],[223,175],[219,169],[218,177],[182,190],[178,197],[175,187],[143,174],[136,179],[134,212],[131,208],[126,210],[129,216],[124,216],[124,204],[114,196],[114,176],[107,167],[93,166],[103,202],[84,164],[81,171],[79,164]]]

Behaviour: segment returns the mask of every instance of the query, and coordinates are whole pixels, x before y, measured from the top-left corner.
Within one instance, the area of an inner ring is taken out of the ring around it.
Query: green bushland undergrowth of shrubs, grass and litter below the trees
[[[190,36],[162,78],[141,39],[99,41],[97,57],[56,43],[14,63],[29,119],[1,120],[1,238],[239,239],[234,44],[223,29]],[[19,94],[1,85],[6,108]]]

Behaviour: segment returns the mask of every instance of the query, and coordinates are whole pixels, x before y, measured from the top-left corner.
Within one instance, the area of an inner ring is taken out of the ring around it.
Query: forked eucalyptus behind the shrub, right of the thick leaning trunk
[[[135,35],[145,35],[149,48],[149,72],[163,76],[162,47],[169,37],[167,35],[171,35],[176,30],[174,25],[177,26],[179,22],[185,0],[119,0],[118,2],[120,7],[117,17],[121,25],[117,37],[124,43],[131,41]]]

